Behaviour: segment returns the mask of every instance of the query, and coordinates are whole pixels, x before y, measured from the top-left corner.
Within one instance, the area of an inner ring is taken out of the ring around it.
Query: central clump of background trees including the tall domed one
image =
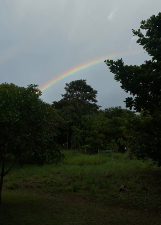
[[[65,90],[63,98],[52,104],[64,121],[60,127],[59,145],[97,153],[115,143],[118,151],[125,152],[124,127],[135,113],[121,107],[100,110],[96,104],[97,91],[85,80],[72,81],[66,84]]]

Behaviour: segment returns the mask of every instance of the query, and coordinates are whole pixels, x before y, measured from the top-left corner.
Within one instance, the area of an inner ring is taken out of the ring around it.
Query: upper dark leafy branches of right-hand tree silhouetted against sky
[[[161,110],[161,13],[141,21],[140,28],[146,30],[145,35],[140,29],[132,30],[133,34],[138,36],[137,43],[152,56],[152,60],[140,66],[124,65],[122,59],[116,62],[105,60],[105,63],[115,74],[114,79],[120,81],[121,88],[133,95],[126,98],[126,107],[153,114]]]

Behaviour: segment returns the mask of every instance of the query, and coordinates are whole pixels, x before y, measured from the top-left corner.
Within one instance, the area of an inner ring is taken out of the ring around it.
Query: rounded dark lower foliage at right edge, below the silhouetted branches
[[[123,128],[126,146],[138,159],[150,158],[161,166],[161,115],[140,113]]]

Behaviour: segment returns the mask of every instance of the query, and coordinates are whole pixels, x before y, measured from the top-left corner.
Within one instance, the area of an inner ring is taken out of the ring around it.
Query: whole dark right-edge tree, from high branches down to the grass
[[[141,21],[140,29],[132,30],[137,43],[152,57],[140,66],[124,65],[123,60],[105,60],[114,79],[133,97],[126,98],[126,107],[141,112],[127,121],[124,134],[127,147],[137,157],[145,155],[161,165],[161,13]]]

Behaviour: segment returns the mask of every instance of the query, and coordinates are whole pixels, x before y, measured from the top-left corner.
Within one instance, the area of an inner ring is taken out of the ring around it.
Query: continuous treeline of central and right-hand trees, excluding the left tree
[[[132,32],[151,60],[140,66],[124,65],[122,59],[105,63],[131,95],[126,107],[137,114],[119,107],[99,110],[97,91],[85,80],[71,82],[63,98],[52,104],[65,121],[59,143],[89,152],[113,146],[123,152],[126,147],[129,154],[161,166],[161,13],[142,20],[140,29]]]

